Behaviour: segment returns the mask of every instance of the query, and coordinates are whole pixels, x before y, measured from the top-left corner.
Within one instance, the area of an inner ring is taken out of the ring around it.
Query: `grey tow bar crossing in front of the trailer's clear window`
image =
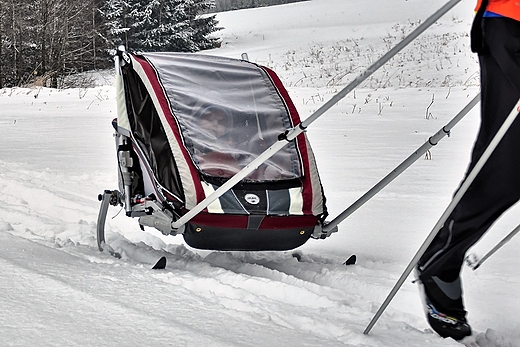
[[[376,72],[381,66],[383,66],[387,61],[393,58],[397,53],[403,50],[410,42],[415,40],[420,34],[422,34],[426,29],[432,26],[436,21],[438,21],[442,16],[444,16],[449,10],[451,10],[457,3],[461,0],[450,0],[444,6],[442,6],[437,12],[428,17],[421,25],[419,25],[414,31],[412,31],[408,36],[406,36],[401,42],[399,42],[394,48],[388,51],[385,55],[379,58],[374,64],[372,64],[369,68],[363,71],[358,77],[356,77],[351,83],[349,83],[346,87],[344,87],[341,91],[339,91],[336,95],[334,95],[329,101],[323,104],[318,110],[316,110],[309,118],[305,119],[299,125],[295,126],[292,129],[288,129],[284,134],[279,136],[279,140],[275,142],[271,147],[267,148],[262,154],[260,154],[256,159],[254,159],[249,165],[244,167],[241,171],[237,172],[233,177],[231,177],[226,183],[217,188],[212,194],[207,196],[204,200],[197,204],[194,208],[184,214],[177,221],[172,222],[172,229],[179,229],[184,224],[188,223],[193,217],[199,214],[202,210],[208,207],[213,201],[217,200],[220,196],[222,196],[229,189],[233,188],[238,182],[240,182],[243,178],[247,177],[251,172],[253,172],[258,166],[263,164],[267,159],[273,156],[276,152],[281,150],[286,144],[294,140],[298,135],[305,131],[305,129],[313,123],[316,119],[321,117],[326,111],[331,109],[335,104],[337,104],[341,99],[347,96],[352,90],[354,90],[357,86],[359,86],[363,81],[365,81],[368,77],[370,77],[374,72]]]

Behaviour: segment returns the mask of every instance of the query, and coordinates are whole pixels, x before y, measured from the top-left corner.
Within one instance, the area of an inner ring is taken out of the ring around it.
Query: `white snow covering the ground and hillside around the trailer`
[[[209,54],[275,69],[302,118],[435,12],[420,0],[312,0],[218,14]],[[331,217],[436,133],[478,93],[464,0],[308,129]],[[348,73],[347,73],[348,72]],[[4,346],[457,346],[428,328],[412,276],[369,335],[363,330],[450,202],[478,130],[472,110],[326,240],[293,252],[209,252],[109,210],[117,188],[114,89],[0,90],[0,338]],[[472,252],[518,219],[508,211]],[[513,239],[463,270],[481,346],[520,346]],[[351,254],[358,263],[344,266]],[[168,258],[165,270],[152,259]]]

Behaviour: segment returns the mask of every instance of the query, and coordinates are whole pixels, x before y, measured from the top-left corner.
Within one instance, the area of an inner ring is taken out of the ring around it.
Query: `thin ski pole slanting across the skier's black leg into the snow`
[[[490,144],[488,145],[488,147],[486,148],[486,150],[484,151],[484,153],[482,154],[482,156],[478,160],[478,162],[475,165],[475,167],[468,174],[468,176],[466,177],[466,179],[462,183],[461,187],[459,188],[459,190],[457,191],[457,193],[453,197],[451,203],[448,205],[448,207],[446,208],[444,213],[441,215],[440,219],[437,221],[437,224],[435,224],[435,226],[433,227],[432,231],[430,232],[430,234],[428,235],[426,240],[424,240],[423,244],[421,245],[421,247],[419,248],[419,250],[417,251],[415,256],[410,261],[410,264],[408,264],[408,266],[404,270],[403,274],[401,275],[401,277],[399,278],[397,283],[394,285],[394,287],[390,291],[390,294],[388,294],[388,296],[386,297],[385,301],[383,302],[383,304],[381,305],[379,310],[376,312],[376,314],[374,315],[374,317],[372,318],[372,320],[370,321],[370,323],[366,327],[365,331],[363,331],[363,334],[366,335],[366,334],[368,334],[370,332],[370,330],[372,330],[372,328],[376,324],[376,322],[379,319],[379,317],[381,317],[381,315],[383,314],[384,310],[388,307],[388,305],[390,304],[390,302],[392,301],[394,296],[397,294],[397,292],[399,291],[399,289],[403,285],[403,283],[406,280],[406,278],[410,275],[410,273],[412,272],[413,268],[419,262],[419,259],[422,257],[424,252],[426,252],[426,249],[428,248],[430,243],[433,241],[435,236],[437,236],[437,233],[442,228],[442,226],[444,225],[444,223],[448,219],[449,215],[455,209],[455,206],[459,203],[459,201],[462,198],[462,196],[466,193],[466,191],[468,190],[468,188],[471,185],[471,183],[473,183],[473,181],[475,180],[475,177],[478,175],[478,173],[480,172],[480,170],[482,169],[484,164],[487,162],[487,160],[489,159],[489,157],[491,156],[491,154],[493,153],[495,148],[498,146],[498,143],[502,140],[502,138],[506,134],[507,130],[509,129],[509,127],[511,126],[513,121],[517,118],[519,112],[520,112],[520,100],[518,100],[518,102],[516,103],[515,107],[511,110],[511,113],[509,114],[509,116],[506,118],[506,120],[504,121],[504,123],[502,124],[500,129],[498,129],[498,132],[493,137],[493,140],[491,140]],[[427,266],[427,265],[428,265],[428,263],[425,264],[425,266]]]

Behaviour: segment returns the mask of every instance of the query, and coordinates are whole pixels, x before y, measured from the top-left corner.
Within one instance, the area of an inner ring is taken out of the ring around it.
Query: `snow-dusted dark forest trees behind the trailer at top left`
[[[142,51],[217,47],[212,12],[301,0],[0,0],[0,88],[85,83],[124,44]]]

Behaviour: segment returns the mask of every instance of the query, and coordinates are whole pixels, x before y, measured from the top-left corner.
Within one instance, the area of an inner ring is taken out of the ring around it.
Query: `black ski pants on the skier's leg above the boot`
[[[520,22],[484,18],[479,55],[481,125],[469,173],[520,98]],[[422,276],[445,282],[460,274],[466,251],[520,199],[520,116],[457,204],[419,261]]]

